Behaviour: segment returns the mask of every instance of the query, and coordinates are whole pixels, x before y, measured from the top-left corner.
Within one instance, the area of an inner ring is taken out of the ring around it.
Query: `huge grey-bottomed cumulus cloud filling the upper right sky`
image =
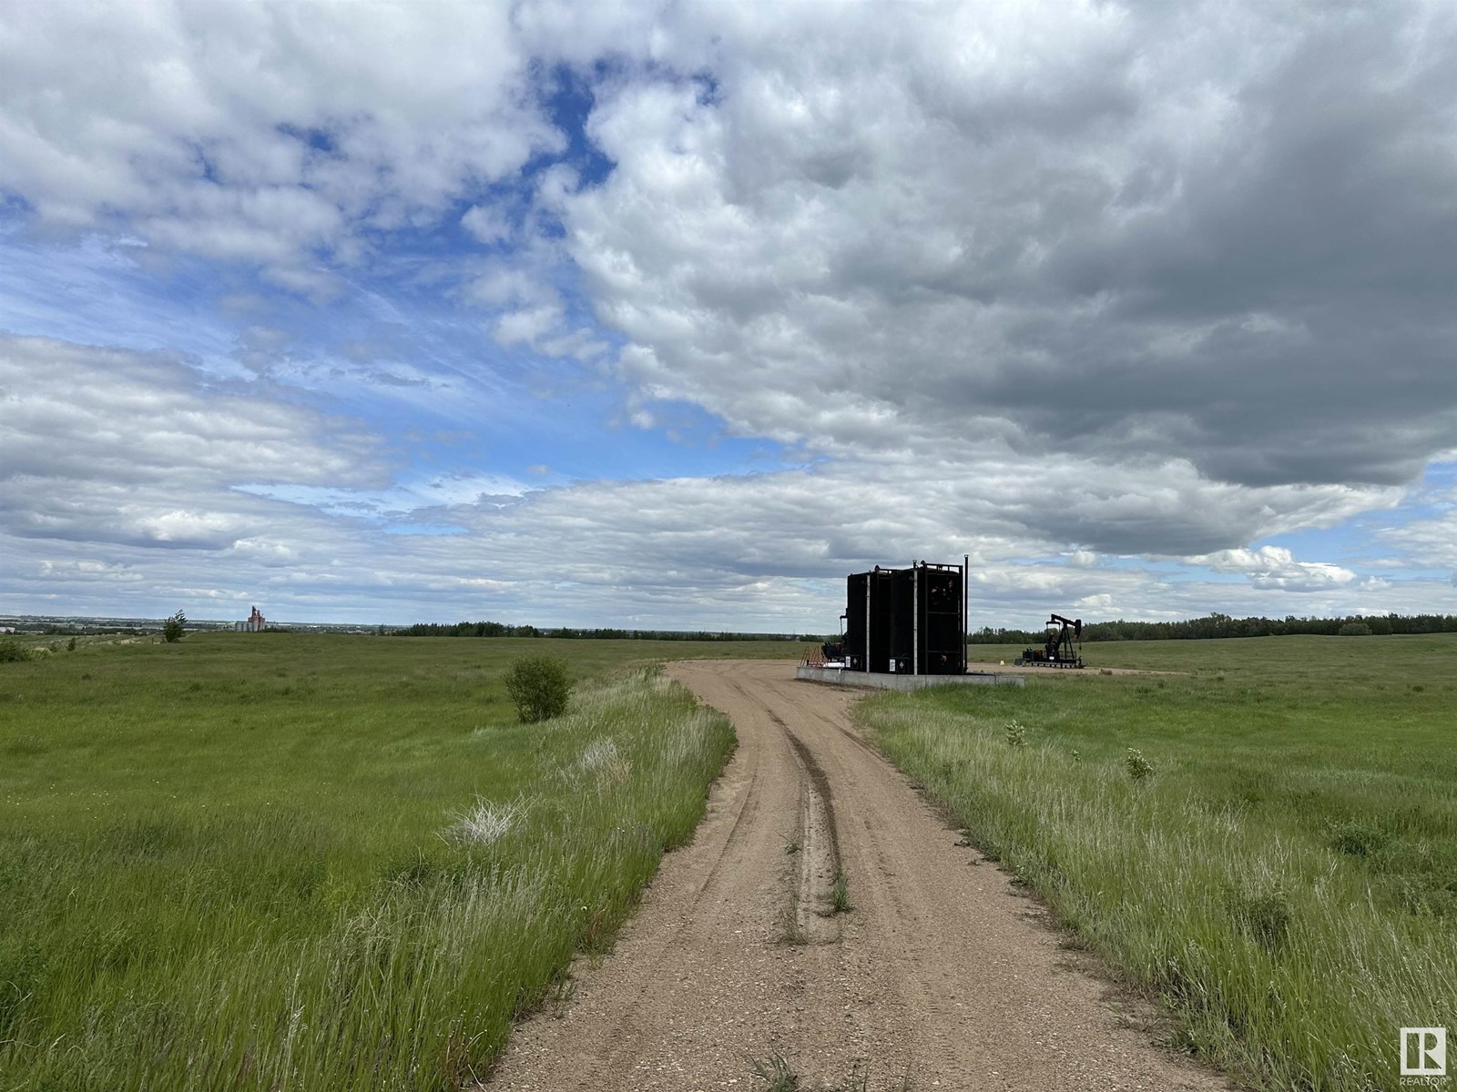
[[[1457,430],[1453,19],[1218,10],[667,16],[710,76],[603,87],[564,201],[624,374],[832,454],[1410,479]]]

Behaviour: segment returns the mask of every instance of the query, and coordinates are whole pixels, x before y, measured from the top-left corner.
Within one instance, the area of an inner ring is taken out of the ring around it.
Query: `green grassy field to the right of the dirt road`
[[[1084,654],[858,715],[1176,1045],[1257,1088],[1397,1088],[1399,1028],[1457,1022],[1457,635]]]

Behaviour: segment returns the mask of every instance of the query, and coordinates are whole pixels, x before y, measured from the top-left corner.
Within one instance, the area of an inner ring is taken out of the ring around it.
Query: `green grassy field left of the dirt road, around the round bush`
[[[189,635],[0,664],[0,1089],[453,1089],[608,942],[798,646]],[[514,655],[568,713],[514,724]]]

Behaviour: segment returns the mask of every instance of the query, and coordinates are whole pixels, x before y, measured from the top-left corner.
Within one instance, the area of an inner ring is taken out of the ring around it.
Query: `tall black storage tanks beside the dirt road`
[[[966,569],[912,562],[908,569],[873,568],[845,581],[847,671],[911,676],[966,674]],[[830,652],[832,646],[826,646]]]

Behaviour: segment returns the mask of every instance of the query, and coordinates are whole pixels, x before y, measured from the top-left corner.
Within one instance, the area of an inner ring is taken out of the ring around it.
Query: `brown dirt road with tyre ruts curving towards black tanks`
[[[750,1059],[772,1056],[803,1089],[1225,1088],[1152,1047],[957,844],[851,728],[849,695],[784,661],[669,670],[739,751],[616,949],[517,1029],[488,1088],[759,1089]]]

